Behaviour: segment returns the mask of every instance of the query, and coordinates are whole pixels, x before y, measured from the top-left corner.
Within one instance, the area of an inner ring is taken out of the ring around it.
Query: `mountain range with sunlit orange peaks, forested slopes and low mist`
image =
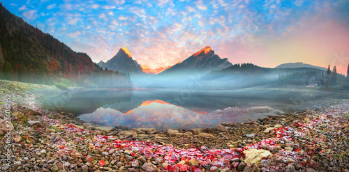
[[[241,88],[275,82],[280,77],[289,82],[299,76],[303,80],[297,83],[322,79],[325,85],[329,78],[324,70],[326,68],[304,63],[285,63],[276,68],[232,65],[228,58],[219,57],[209,46],[173,66],[154,70],[140,65],[126,47],[107,62],[96,64],[87,54],[74,52],[50,34],[11,14],[0,3],[0,79],[107,88],[192,88],[197,85]],[[332,81],[336,83],[336,78],[332,77]]]

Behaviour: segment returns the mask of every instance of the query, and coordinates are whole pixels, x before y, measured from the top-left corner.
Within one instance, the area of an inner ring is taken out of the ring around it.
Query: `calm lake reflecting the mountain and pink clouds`
[[[86,123],[159,130],[215,127],[258,120],[282,112],[327,106],[348,94],[313,88],[245,88],[239,90],[101,89],[67,91],[40,100]]]

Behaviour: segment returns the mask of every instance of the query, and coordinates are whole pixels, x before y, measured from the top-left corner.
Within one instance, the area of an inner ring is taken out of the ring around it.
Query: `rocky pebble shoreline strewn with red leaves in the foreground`
[[[34,93],[31,100],[35,101],[36,96]],[[73,114],[34,105],[13,105],[11,126],[1,120],[1,171],[349,169],[346,100],[327,108],[258,121],[165,132],[98,127],[83,123]],[[5,132],[9,130],[12,144],[5,148]],[[6,164],[8,152],[10,163]]]

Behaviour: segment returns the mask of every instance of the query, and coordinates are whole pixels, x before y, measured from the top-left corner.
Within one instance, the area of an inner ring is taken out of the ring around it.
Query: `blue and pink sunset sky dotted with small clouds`
[[[274,68],[303,62],[346,73],[349,1],[27,0],[2,1],[11,13],[92,61],[127,47],[160,68],[210,46],[231,63]]]

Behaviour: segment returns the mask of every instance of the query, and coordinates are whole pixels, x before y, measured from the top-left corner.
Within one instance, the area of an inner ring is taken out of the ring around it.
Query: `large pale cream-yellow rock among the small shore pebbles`
[[[244,162],[250,164],[250,165],[255,165],[256,163],[260,162],[263,157],[268,157],[272,153],[270,153],[269,150],[264,150],[264,149],[248,149],[244,150],[242,153],[245,155]]]

